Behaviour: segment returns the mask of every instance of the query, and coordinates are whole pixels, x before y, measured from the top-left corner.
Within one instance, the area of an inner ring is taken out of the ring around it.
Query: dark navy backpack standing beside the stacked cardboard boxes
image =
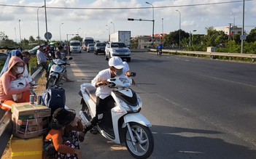
[[[66,94],[65,89],[60,86],[51,86],[42,94],[42,105],[50,107],[53,112],[59,107],[65,107]]]

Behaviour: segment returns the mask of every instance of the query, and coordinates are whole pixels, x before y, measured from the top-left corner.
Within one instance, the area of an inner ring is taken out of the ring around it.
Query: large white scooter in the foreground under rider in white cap
[[[112,107],[104,112],[104,118],[96,127],[106,139],[125,146],[134,158],[148,158],[154,149],[151,124],[141,115],[141,98],[130,89],[131,78],[116,76],[107,80],[114,88],[111,96]],[[82,110],[79,116],[88,123],[96,115],[96,88],[90,83],[83,83],[79,91],[82,97]]]

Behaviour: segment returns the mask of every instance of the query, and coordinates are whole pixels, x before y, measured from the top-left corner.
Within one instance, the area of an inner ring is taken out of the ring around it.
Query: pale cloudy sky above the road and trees
[[[147,4],[146,1],[150,4]],[[109,33],[131,30],[131,36],[170,33],[180,28],[187,33],[206,34],[206,28],[235,25],[242,27],[242,0],[0,0],[0,31],[20,42],[29,36],[67,40],[79,34],[106,41]],[[256,27],[256,0],[245,1],[244,30]],[[37,11],[39,21],[37,20]],[[134,18],[135,21],[128,21]],[[151,20],[151,21],[139,21]],[[63,24],[62,24],[63,23]],[[47,24],[47,27],[46,27]],[[196,31],[193,31],[196,30]],[[44,38],[45,39],[45,38]]]

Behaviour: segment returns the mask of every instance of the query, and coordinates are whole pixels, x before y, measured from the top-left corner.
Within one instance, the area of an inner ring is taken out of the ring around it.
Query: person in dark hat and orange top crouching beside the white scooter
[[[63,107],[55,110],[49,127],[50,131],[44,142],[53,142],[57,151],[55,158],[82,158],[77,131],[82,131],[83,126],[74,110],[66,110]]]

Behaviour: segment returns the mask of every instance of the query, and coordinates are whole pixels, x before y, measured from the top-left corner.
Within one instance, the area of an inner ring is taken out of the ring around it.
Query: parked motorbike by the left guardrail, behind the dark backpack
[[[52,59],[49,64],[49,77],[47,78],[46,89],[50,86],[59,85],[66,73],[66,65],[70,65],[66,60],[72,60],[72,57],[68,59]]]

